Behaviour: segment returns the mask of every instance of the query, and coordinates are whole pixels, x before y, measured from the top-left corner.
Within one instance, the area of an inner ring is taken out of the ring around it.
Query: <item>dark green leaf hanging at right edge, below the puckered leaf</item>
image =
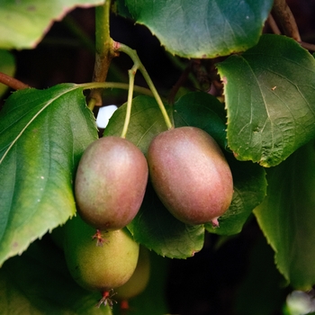
[[[315,284],[315,150],[299,148],[267,170],[267,196],[254,211],[280,272],[296,289]]]

